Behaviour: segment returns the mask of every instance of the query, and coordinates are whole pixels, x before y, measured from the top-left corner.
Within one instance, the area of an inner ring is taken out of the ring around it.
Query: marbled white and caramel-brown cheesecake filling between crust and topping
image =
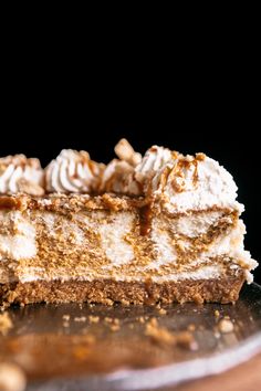
[[[243,270],[251,282],[250,271],[257,266],[243,249],[244,224],[233,212],[158,215],[147,235],[140,235],[138,210],[94,210],[70,216],[33,210],[0,213],[6,222],[0,262],[13,270],[11,281],[160,283],[217,278]]]

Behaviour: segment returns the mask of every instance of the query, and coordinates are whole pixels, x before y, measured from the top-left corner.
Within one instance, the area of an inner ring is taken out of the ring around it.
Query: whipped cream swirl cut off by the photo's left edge
[[[7,156],[0,159],[0,193],[24,192],[42,196],[43,169],[38,159],[28,159],[24,155]]]

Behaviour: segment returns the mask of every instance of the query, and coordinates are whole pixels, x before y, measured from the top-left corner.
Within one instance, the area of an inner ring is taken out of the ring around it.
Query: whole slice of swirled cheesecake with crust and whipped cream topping
[[[230,173],[203,154],[115,151],[0,159],[0,300],[237,300],[257,262]]]

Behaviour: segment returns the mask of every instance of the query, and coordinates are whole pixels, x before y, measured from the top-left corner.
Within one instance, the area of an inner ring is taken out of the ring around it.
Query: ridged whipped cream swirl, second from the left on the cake
[[[96,191],[103,165],[90,159],[86,151],[63,149],[45,168],[45,184],[49,192],[84,193]]]

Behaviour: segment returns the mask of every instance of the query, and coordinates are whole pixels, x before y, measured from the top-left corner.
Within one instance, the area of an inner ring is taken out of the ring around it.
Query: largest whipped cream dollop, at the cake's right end
[[[213,205],[242,211],[236,202],[232,176],[216,160],[182,157],[170,161],[153,179],[153,192],[169,212],[202,210]]]

